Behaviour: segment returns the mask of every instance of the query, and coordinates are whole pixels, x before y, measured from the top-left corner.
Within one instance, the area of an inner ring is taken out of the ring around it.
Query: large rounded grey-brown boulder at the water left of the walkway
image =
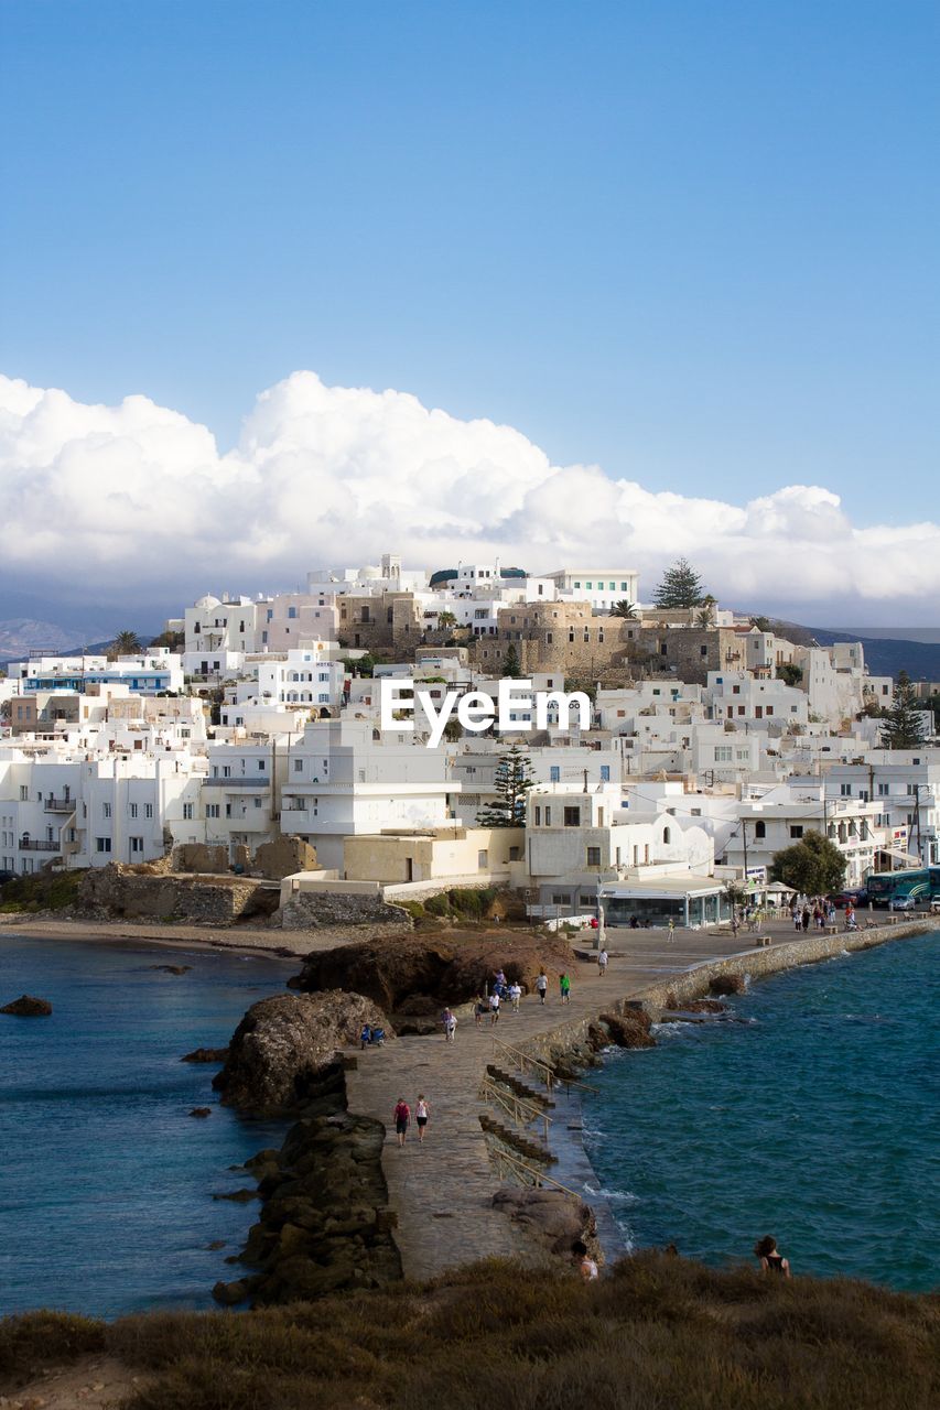
[[[298,1111],[366,1024],[394,1036],[381,1010],[361,994],[332,990],[263,998],[236,1028],[226,1065],[212,1084],[229,1107],[258,1115]]]

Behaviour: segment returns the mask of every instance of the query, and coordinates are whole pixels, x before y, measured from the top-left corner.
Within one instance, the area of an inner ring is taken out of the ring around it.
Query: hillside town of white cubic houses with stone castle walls
[[[629,567],[392,554],[305,591],[206,594],[144,649],[123,633],[8,663],[0,873],[195,846],[250,876],[295,839],[292,893],[508,887],[532,918],[603,902],[617,924],[700,926],[731,919],[735,887],[781,901],[775,859],[810,835],[847,888],[940,863],[940,687],[790,636],[724,609],[685,560],[648,605]],[[418,715],[381,728],[388,682],[486,699],[505,678],[555,701],[548,718],[450,718],[436,747]],[[574,691],[589,721],[563,718]]]

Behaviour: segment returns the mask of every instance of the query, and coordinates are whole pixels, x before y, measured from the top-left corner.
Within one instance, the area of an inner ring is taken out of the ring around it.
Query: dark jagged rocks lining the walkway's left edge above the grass
[[[305,1114],[282,1148],[247,1162],[263,1200],[239,1259],[251,1272],[217,1283],[216,1301],[309,1301],[402,1276],[381,1170],[385,1129],[344,1107],[343,1073],[333,1065],[311,1084]]]

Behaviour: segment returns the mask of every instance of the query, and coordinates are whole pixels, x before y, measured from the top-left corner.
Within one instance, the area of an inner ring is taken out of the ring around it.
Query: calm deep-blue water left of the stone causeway
[[[192,964],[183,976],[151,964]],[[0,1015],[0,1314],[59,1307],[113,1317],[209,1307],[233,1276],[257,1204],[229,1166],[284,1128],[217,1105],[222,1048],[250,1004],[296,964],[147,945],[0,936],[0,1003],[23,993],[51,1018]],[[207,1120],[188,1115],[212,1105]],[[207,1244],[226,1246],[210,1251]]]

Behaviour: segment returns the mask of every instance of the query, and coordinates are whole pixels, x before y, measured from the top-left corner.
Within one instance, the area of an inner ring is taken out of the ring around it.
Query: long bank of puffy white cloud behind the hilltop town
[[[500,556],[534,571],[638,567],[648,596],[686,554],[723,601],[893,602],[940,592],[940,526],[855,527],[831,491],[745,505],[552,465],[510,426],[404,392],[295,372],[263,392],[239,446],[128,396],[85,406],[0,378],[0,561],[8,580],[88,596],[251,591],[311,567],[401,553],[415,567]]]

